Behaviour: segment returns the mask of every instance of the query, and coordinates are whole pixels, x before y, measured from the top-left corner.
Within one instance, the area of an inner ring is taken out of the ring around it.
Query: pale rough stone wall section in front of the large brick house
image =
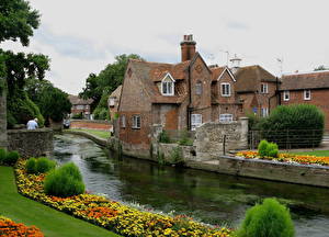
[[[248,147],[248,119],[241,117],[228,124],[206,123],[196,128],[195,147],[197,159],[222,156],[225,150],[246,149]]]

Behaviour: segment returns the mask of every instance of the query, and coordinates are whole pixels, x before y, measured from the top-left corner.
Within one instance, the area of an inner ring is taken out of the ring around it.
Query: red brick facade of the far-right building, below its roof
[[[283,100],[281,92],[281,104],[314,104],[325,113],[325,129],[329,131],[329,89],[310,90],[310,100],[304,100],[304,90],[290,91],[290,100]]]

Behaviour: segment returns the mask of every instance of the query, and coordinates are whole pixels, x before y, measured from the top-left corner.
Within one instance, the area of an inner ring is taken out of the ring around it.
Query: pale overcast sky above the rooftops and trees
[[[261,65],[275,76],[329,67],[328,0],[30,3],[42,14],[30,46],[4,42],[0,47],[48,55],[52,69],[46,79],[71,94],[82,90],[89,74],[99,74],[121,54],[179,63],[185,34],[193,34],[196,49],[207,64],[223,66],[237,55],[241,66]]]

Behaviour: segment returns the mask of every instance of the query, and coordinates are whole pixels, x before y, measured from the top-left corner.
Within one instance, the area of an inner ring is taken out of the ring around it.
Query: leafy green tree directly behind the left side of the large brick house
[[[109,64],[99,75],[90,74],[86,79],[86,88],[79,93],[79,97],[87,99],[93,99],[91,110],[93,111],[99,102],[107,101],[109,95],[123,82],[123,78],[128,65],[129,59],[140,59],[140,56],[136,54],[118,55],[115,57],[113,64]],[[100,104],[100,109],[104,108],[104,104]],[[107,105],[105,104],[105,108]]]

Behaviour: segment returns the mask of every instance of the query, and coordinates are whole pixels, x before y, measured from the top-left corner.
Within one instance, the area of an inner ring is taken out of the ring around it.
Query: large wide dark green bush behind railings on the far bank
[[[324,135],[324,112],[313,104],[280,105],[262,123],[262,137],[280,147],[319,146]]]

